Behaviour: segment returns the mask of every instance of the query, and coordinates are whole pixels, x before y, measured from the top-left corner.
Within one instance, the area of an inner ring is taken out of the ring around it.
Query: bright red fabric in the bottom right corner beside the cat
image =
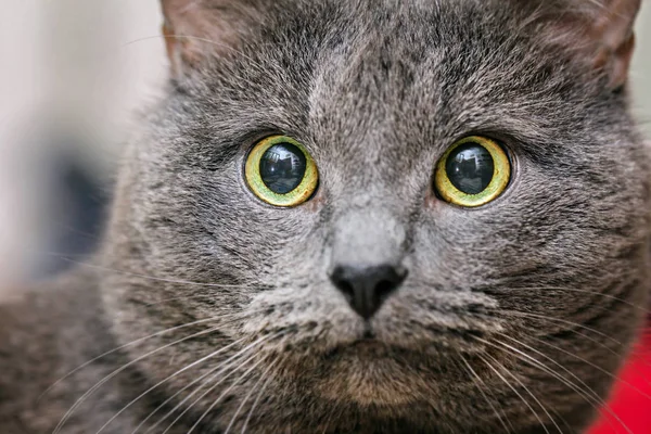
[[[651,434],[651,331],[620,373],[608,408],[588,434]]]

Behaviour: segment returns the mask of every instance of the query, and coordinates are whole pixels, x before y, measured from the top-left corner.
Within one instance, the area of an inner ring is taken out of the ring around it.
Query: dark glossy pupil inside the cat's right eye
[[[477,143],[464,143],[455,149],[447,158],[445,170],[448,179],[465,194],[478,194],[493,180],[493,156]]]

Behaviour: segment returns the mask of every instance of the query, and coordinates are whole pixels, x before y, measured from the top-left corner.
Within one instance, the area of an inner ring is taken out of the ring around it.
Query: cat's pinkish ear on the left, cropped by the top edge
[[[174,76],[237,50],[260,23],[264,0],[161,0],[163,36]]]

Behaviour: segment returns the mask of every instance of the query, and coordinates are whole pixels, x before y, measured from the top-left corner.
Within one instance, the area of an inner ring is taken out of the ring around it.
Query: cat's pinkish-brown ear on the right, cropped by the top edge
[[[595,68],[608,74],[611,89],[621,88],[628,78],[635,47],[633,26],[641,0],[566,1],[570,20],[562,21],[565,29],[578,37],[570,43],[577,44]]]

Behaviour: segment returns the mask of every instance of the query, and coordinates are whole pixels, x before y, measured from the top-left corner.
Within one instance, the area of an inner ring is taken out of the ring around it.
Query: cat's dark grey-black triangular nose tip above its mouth
[[[353,309],[363,319],[369,319],[406,277],[406,270],[391,265],[339,266],[330,275],[330,280],[344,293]]]

